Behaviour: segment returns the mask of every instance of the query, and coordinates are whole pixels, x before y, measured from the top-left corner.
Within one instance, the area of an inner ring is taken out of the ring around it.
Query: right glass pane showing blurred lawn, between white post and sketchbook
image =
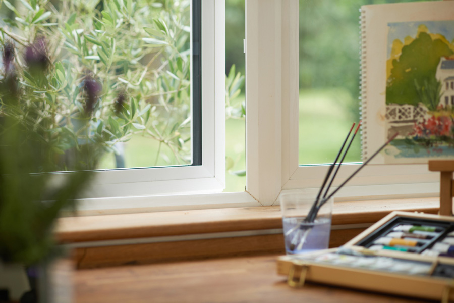
[[[359,9],[408,1],[301,0],[299,163],[332,163],[359,112]],[[344,162],[361,161],[357,135]]]

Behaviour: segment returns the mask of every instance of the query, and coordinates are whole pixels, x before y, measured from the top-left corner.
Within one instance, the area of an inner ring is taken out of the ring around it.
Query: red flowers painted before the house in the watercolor
[[[452,137],[454,123],[450,116],[431,116],[420,123],[415,123],[413,135],[425,138]]]

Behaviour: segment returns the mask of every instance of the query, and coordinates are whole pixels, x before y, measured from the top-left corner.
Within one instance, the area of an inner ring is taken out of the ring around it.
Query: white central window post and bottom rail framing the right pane
[[[264,205],[280,189],[316,192],[327,168],[298,166],[298,8],[296,0],[247,2],[247,189]],[[346,165],[337,182],[357,168]],[[437,181],[426,165],[369,165],[336,197],[428,196],[438,192]]]

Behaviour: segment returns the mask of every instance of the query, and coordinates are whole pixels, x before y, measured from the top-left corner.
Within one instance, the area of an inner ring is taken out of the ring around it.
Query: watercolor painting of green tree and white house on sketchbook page
[[[388,23],[385,131],[395,162],[454,158],[454,21]]]

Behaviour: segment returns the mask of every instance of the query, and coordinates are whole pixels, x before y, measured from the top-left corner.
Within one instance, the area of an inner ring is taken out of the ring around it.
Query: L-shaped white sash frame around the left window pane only
[[[223,190],[225,21],[221,5],[221,1],[202,1],[202,165],[97,171],[85,196],[106,198]]]

